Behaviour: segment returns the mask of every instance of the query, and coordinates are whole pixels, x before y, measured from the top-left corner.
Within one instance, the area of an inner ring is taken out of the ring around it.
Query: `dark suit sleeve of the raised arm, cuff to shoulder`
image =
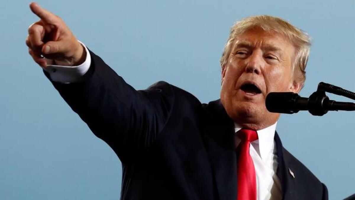
[[[47,78],[71,109],[104,140],[121,161],[134,160],[163,129],[174,104],[173,86],[158,82],[136,91],[91,51],[91,65],[81,82]]]

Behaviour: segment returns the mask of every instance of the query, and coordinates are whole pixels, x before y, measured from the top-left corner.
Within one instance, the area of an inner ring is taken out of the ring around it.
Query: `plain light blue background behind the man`
[[[354,0],[38,2],[137,89],[165,80],[201,102],[219,98],[219,58],[230,26],[268,14],[313,39],[302,96],[320,81],[355,91]],[[119,199],[119,159],[27,53],[27,28],[38,20],[29,3],[1,3],[0,199]],[[328,186],[330,199],[355,193],[354,117],[300,112],[278,123],[284,146]]]

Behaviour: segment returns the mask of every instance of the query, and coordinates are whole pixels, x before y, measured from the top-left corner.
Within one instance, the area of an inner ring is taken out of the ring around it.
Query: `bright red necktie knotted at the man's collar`
[[[254,130],[241,129],[237,132],[241,139],[238,146],[238,197],[237,200],[256,200],[256,175],[249,153],[250,142],[257,140]]]

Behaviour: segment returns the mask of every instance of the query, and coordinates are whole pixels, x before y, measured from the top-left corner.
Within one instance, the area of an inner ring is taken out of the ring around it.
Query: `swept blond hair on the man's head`
[[[282,34],[293,43],[296,49],[292,66],[294,77],[295,80],[300,81],[303,85],[306,80],[305,70],[310,53],[311,39],[306,32],[291,25],[285,20],[268,15],[251,16],[234,23],[231,27],[228,41],[224,46],[222,57],[220,59],[222,70],[224,70],[228,63],[229,55],[236,42],[236,38],[253,27],[260,27],[267,32]]]

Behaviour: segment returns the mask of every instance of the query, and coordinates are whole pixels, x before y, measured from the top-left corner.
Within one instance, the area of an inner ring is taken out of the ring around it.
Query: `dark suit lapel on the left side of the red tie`
[[[237,160],[234,123],[220,101],[210,102],[205,109],[204,133],[206,150],[215,177],[220,200],[237,198]]]

